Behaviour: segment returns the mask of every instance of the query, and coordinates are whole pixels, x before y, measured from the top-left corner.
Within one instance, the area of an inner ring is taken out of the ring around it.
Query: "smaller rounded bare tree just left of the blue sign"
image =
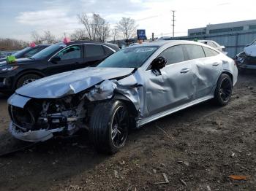
[[[121,20],[117,23],[118,31],[124,36],[124,39],[129,39],[136,34],[136,25],[135,20],[130,17],[122,17]]]

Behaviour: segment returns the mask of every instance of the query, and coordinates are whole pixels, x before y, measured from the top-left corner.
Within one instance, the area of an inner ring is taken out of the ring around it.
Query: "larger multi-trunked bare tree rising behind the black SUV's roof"
[[[99,14],[93,13],[91,17],[82,13],[78,15],[78,20],[86,28],[86,33],[91,40],[97,40],[100,42],[105,42],[105,40],[110,36],[110,26],[109,23]]]

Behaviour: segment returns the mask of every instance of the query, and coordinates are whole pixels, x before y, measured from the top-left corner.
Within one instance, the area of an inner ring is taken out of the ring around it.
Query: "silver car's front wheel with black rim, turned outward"
[[[128,127],[129,113],[124,103],[110,101],[98,104],[89,124],[91,142],[98,152],[115,154],[127,141]]]

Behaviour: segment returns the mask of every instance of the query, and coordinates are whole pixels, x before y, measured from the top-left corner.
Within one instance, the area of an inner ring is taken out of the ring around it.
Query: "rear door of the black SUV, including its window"
[[[84,44],[86,66],[97,66],[102,60],[108,57],[101,44]]]

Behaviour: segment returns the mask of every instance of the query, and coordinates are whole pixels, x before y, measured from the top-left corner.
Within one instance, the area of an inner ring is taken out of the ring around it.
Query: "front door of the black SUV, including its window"
[[[48,61],[48,74],[58,74],[83,68],[83,46],[73,44],[56,53]]]

